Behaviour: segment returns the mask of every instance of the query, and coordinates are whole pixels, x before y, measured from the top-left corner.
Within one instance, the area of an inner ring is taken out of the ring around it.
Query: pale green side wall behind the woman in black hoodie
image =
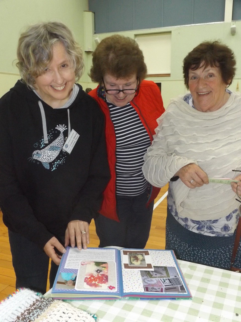
[[[84,45],[84,11],[88,0],[0,0],[0,97],[19,79],[13,61],[19,35],[28,25],[42,21],[61,21],[66,24],[81,47]],[[86,53],[84,60],[87,62]],[[88,67],[81,78],[88,86]]]

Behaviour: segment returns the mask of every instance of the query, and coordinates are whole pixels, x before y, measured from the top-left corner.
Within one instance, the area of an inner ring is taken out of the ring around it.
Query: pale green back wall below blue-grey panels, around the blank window
[[[205,40],[220,40],[227,44],[235,53],[237,60],[237,72],[233,83],[230,86],[231,90],[236,90],[237,81],[241,79],[241,21],[236,23],[236,34],[231,35],[230,26],[231,23],[212,23],[212,24],[199,24],[189,26],[178,27],[166,27],[155,28],[145,30],[134,30],[121,32],[124,36],[135,39],[137,34],[145,33],[160,33],[160,32],[172,32],[172,44],[171,44],[171,76],[170,77],[151,77],[149,80],[162,83],[162,97],[165,108],[168,106],[170,99],[177,97],[180,94],[186,92],[182,65],[183,59],[195,46]],[[98,34],[100,40],[112,35],[113,33],[101,33]],[[93,39],[96,35],[93,36]],[[88,60],[91,57],[88,56]],[[88,62],[88,66],[91,66],[91,61]],[[94,86],[94,85],[93,85]],[[241,89],[241,80],[239,80],[239,88]]]

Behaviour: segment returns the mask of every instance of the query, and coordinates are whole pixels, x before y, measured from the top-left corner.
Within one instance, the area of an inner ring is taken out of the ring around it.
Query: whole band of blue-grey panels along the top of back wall
[[[241,19],[234,0],[233,19]],[[89,0],[95,33],[224,21],[225,0]]]

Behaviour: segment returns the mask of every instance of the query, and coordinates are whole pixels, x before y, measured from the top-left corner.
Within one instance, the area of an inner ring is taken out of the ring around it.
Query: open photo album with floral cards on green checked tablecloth
[[[51,297],[191,299],[192,295],[174,251],[67,247]]]

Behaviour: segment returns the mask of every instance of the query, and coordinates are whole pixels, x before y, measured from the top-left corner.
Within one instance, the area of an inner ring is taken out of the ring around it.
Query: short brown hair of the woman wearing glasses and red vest
[[[137,74],[140,81],[147,75],[147,66],[138,43],[118,34],[104,38],[97,45],[92,63],[89,76],[99,84],[107,73],[116,78]]]

